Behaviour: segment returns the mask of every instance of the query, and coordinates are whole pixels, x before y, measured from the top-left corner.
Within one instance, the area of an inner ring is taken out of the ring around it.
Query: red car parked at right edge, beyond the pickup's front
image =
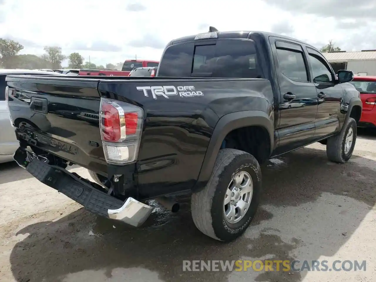
[[[360,92],[363,103],[359,127],[376,127],[376,76],[354,76],[350,82]]]

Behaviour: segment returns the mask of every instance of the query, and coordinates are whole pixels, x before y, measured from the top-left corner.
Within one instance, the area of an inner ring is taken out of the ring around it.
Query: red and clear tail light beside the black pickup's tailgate
[[[138,106],[112,99],[100,101],[100,133],[108,164],[135,162],[143,127],[144,111]]]

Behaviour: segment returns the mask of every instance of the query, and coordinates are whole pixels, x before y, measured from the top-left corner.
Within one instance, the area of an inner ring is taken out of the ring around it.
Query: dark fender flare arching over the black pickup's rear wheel
[[[209,181],[222,141],[232,130],[246,126],[262,126],[269,133],[270,154],[274,148],[274,121],[263,111],[241,111],[226,114],[215,125],[208,149],[202,163],[197,183],[193,190],[198,191]]]

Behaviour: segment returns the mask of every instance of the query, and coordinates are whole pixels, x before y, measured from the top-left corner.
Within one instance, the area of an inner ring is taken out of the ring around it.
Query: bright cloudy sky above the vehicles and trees
[[[0,37],[23,44],[21,53],[60,46],[103,65],[159,60],[168,41],[209,25],[282,33],[317,48],[332,39],[342,50],[376,49],[375,0],[0,0]]]

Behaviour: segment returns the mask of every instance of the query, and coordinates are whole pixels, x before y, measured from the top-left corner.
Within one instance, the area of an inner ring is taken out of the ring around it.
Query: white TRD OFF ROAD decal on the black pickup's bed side
[[[162,96],[168,99],[168,96],[180,97],[194,97],[194,96],[203,96],[202,91],[197,91],[194,86],[137,86],[137,90],[143,91],[145,97],[149,97],[149,94],[152,94],[154,99],[157,99],[157,96]]]

